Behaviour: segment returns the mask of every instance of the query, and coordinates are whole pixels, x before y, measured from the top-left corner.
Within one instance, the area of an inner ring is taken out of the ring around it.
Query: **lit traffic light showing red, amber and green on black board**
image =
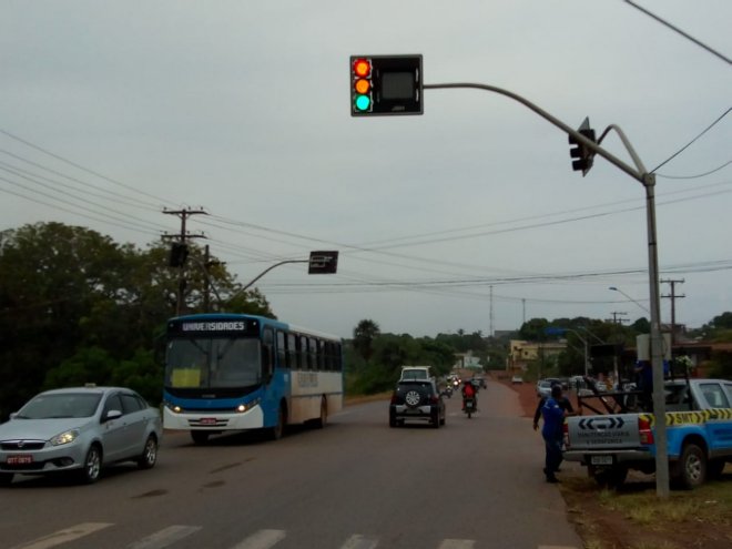
[[[352,55],[350,115],[421,114],[421,55]]]

